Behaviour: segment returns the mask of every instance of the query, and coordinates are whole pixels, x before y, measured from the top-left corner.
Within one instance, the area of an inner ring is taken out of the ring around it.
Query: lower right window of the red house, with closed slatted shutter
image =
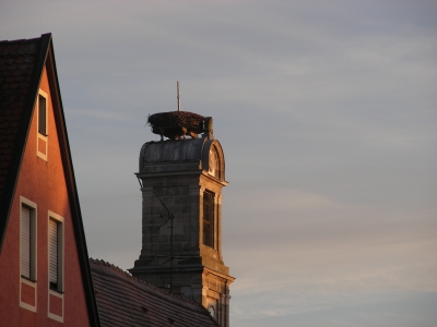
[[[49,287],[62,291],[63,240],[62,217],[49,213],[48,219],[48,277]]]

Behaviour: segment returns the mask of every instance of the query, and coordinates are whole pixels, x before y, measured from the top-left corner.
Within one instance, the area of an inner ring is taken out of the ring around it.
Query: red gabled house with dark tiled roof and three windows
[[[51,35],[0,43],[0,325],[98,326]]]

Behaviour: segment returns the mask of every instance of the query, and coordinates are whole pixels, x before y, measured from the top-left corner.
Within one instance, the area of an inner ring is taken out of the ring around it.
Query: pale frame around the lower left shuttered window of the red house
[[[31,276],[29,277],[23,277],[22,276],[22,243],[23,243],[23,235],[22,235],[22,211],[23,207],[27,207],[31,209],[31,234],[29,234],[29,242],[31,242]],[[20,196],[20,306],[26,310],[29,310],[32,312],[36,312],[36,300],[37,300],[37,287],[36,287],[36,279],[37,279],[37,205],[36,203]],[[32,288],[35,289],[35,305],[31,305],[28,303],[22,302],[21,301],[21,294],[22,294],[22,283],[25,283]]]

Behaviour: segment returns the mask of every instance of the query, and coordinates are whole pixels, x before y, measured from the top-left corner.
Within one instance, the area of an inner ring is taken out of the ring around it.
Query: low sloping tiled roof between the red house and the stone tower
[[[170,294],[129,272],[90,259],[102,326],[218,326],[198,302]]]

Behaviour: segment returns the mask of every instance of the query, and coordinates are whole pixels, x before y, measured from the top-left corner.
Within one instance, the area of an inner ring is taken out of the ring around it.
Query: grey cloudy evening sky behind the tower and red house
[[[437,2],[2,1],[52,33],[90,256],[141,250],[151,113],[211,116],[231,324],[436,326]]]

